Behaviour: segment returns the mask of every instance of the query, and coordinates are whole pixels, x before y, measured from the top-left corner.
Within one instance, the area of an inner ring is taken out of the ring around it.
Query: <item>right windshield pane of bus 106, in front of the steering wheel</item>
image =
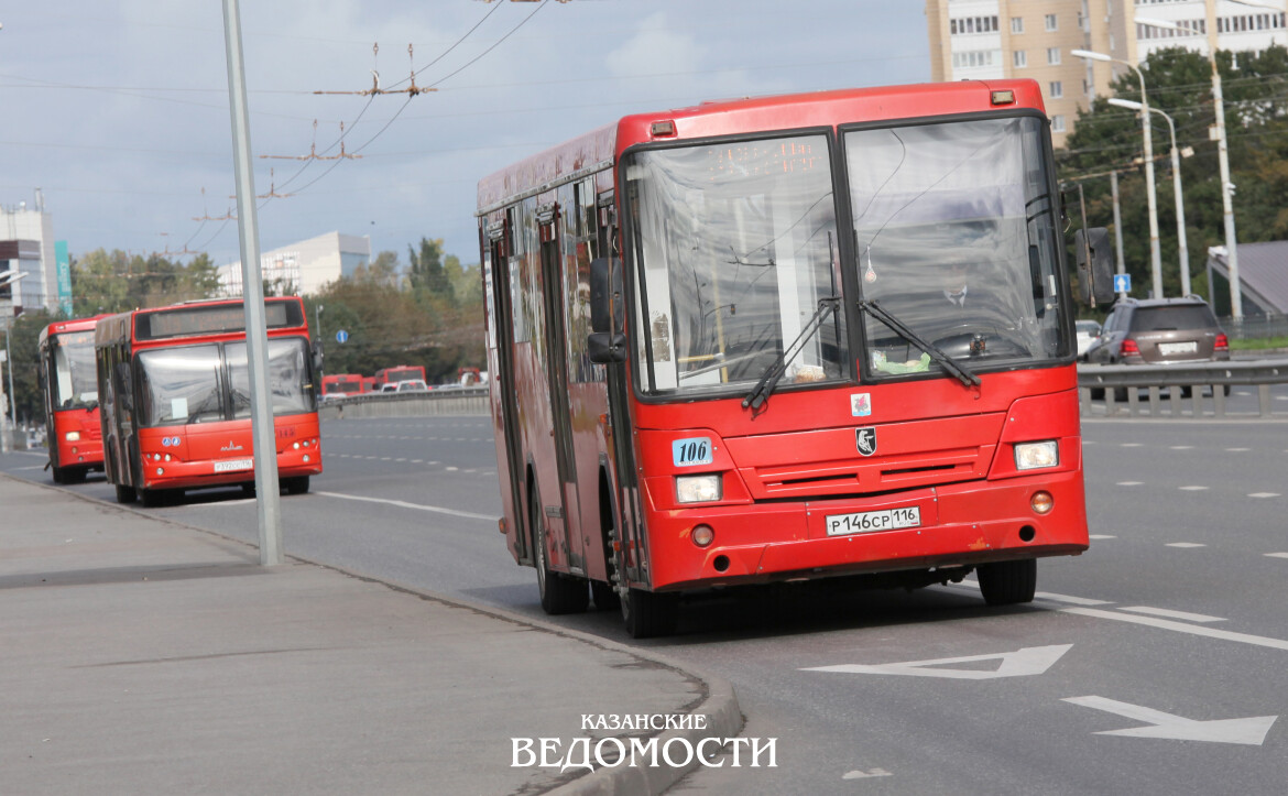
[[[971,370],[1069,353],[1041,128],[1012,117],[844,135],[864,301]],[[864,331],[871,377],[940,371],[871,313]]]

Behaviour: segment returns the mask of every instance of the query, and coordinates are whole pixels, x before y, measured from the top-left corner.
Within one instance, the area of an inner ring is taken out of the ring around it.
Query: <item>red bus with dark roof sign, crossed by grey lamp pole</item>
[[[322,473],[317,363],[298,296],[264,301],[277,469],[291,495]],[[183,489],[255,487],[241,299],[108,316],[95,331],[107,479],[117,502],[160,505]]]

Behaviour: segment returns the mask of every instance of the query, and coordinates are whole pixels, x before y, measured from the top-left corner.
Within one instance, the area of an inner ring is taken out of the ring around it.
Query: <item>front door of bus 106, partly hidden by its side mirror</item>
[[[598,201],[596,251],[622,261],[613,193],[600,194]],[[621,265],[618,265],[621,268]],[[625,278],[625,274],[621,274]],[[617,483],[613,484],[617,501],[617,541],[622,546],[626,577],[632,582],[645,580],[643,565],[645,546],[640,538],[639,479],[635,470],[635,447],[631,434],[630,385],[626,381],[626,363],[617,362],[608,368],[608,416],[611,421],[613,465]]]

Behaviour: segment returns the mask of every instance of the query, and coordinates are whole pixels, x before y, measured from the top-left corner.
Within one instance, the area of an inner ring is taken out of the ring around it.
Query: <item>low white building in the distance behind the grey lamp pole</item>
[[[371,263],[371,236],[328,232],[259,255],[264,281],[289,294],[314,294]],[[219,292],[242,295],[241,260],[219,267]]]

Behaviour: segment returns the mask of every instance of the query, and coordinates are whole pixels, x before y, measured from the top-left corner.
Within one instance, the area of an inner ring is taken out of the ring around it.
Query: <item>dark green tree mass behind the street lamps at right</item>
[[[1234,213],[1240,242],[1288,236],[1288,49],[1271,46],[1262,53],[1217,53],[1225,95],[1231,182],[1238,185]],[[1190,252],[1191,290],[1207,294],[1203,261],[1209,246],[1225,245],[1217,144],[1208,138],[1215,124],[1212,68],[1204,55],[1170,48],[1140,64],[1149,104],[1167,112],[1176,124],[1180,148],[1194,156],[1181,161],[1186,243]],[[1114,95],[1140,100],[1133,72],[1112,84]],[[1132,291],[1144,296],[1151,283],[1149,216],[1141,156],[1139,115],[1097,98],[1079,113],[1077,129],[1056,152],[1060,178],[1081,180],[1087,200],[1087,223],[1112,225],[1113,200],[1109,171],[1119,173],[1119,207],[1123,254],[1132,274]],[[1166,120],[1150,115],[1155,155],[1159,243],[1163,291],[1180,295],[1179,243],[1171,169],[1171,142]],[[1073,224],[1081,214],[1070,207]],[[1211,296],[1209,296],[1211,298]]]

